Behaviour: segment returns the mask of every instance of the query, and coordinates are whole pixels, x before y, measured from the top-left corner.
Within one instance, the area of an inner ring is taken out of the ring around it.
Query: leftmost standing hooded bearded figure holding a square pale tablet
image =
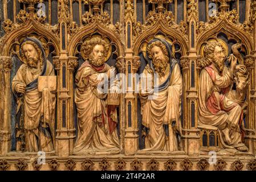
[[[17,151],[54,150],[56,76],[42,43],[26,38],[20,44],[23,64],[12,81],[17,101]]]

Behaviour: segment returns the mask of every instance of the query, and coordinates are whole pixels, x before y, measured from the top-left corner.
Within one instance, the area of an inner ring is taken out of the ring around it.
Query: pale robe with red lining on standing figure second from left
[[[107,106],[106,93],[97,86],[106,73],[107,64],[94,67],[85,61],[76,73],[75,104],[78,111],[78,137],[74,154],[119,151],[116,108]]]

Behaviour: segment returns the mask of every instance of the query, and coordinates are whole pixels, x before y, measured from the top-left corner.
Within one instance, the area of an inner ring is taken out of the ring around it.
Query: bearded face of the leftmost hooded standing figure
[[[25,55],[27,65],[31,68],[37,68],[39,59],[35,47],[31,44],[25,44],[23,46],[23,53]]]

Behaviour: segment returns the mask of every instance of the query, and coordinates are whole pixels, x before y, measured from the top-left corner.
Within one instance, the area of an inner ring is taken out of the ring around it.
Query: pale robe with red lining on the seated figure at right
[[[214,65],[202,69],[199,85],[199,125],[215,126],[220,132],[221,144],[225,148],[245,146],[243,137],[242,108],[226,97],[233,84],[233,73],[224,68],[222,74]],[[230,126],[235,125],[235,131]],[[227,144],[225,133],[229,134],[231,143]]]

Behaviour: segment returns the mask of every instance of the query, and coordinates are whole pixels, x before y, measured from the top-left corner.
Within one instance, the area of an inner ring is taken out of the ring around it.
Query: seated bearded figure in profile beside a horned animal
[[[204,48],[204,60],[199,85],[199,125],[215,126],[224,148],[247,151],[243,144],[244,126],[241,106],[227,97],[234,83],[236,60],[230,68],[225,66],[224,48],[220,42],[208,42]]]

